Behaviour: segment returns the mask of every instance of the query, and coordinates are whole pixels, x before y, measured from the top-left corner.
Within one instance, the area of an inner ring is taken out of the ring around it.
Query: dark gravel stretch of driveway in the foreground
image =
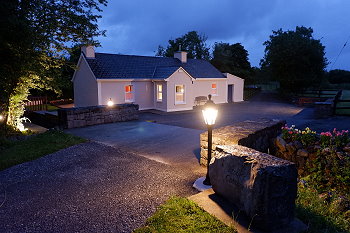
[[[0,232],[131,232],[201,171],[87,142],[0,172]]]

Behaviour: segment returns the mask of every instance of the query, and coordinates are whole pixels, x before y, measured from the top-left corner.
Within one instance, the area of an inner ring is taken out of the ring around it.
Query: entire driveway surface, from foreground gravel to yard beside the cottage
[[[271,94],[219,108],[216,127],[272,118],[350,129],[349,117],[315,119]],[[68,130],[91,141],[0,172],[0,232],[131,232],[170,196],[196,193],[204,130],[198,110]]]

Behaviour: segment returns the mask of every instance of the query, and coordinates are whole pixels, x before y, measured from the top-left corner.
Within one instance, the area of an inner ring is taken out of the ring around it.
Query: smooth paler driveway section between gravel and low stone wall
[[[203,130],[145,121],[118,122],[75,128],[65,132],[97,141],[165,164],[193,169],[199,162],[199,135]]]

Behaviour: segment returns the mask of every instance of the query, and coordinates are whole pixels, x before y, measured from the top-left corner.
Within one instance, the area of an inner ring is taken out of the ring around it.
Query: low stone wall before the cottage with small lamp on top
[[[60,127],[65,129],[138,119],[137,104],[115,104],[58,110]]]

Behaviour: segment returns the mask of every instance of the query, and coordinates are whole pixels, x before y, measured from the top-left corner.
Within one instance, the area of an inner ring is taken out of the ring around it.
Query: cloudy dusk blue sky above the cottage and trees
[[[214,42],[241,43],[253,66],[264,55],[263,42],[272,30],[312,27],[326,46],[328,69],[350,70],[350,0],[110,0],[103,8],[97,52],[153,56],[188,31]],[[333,64],[334,63],[334,64]]]

